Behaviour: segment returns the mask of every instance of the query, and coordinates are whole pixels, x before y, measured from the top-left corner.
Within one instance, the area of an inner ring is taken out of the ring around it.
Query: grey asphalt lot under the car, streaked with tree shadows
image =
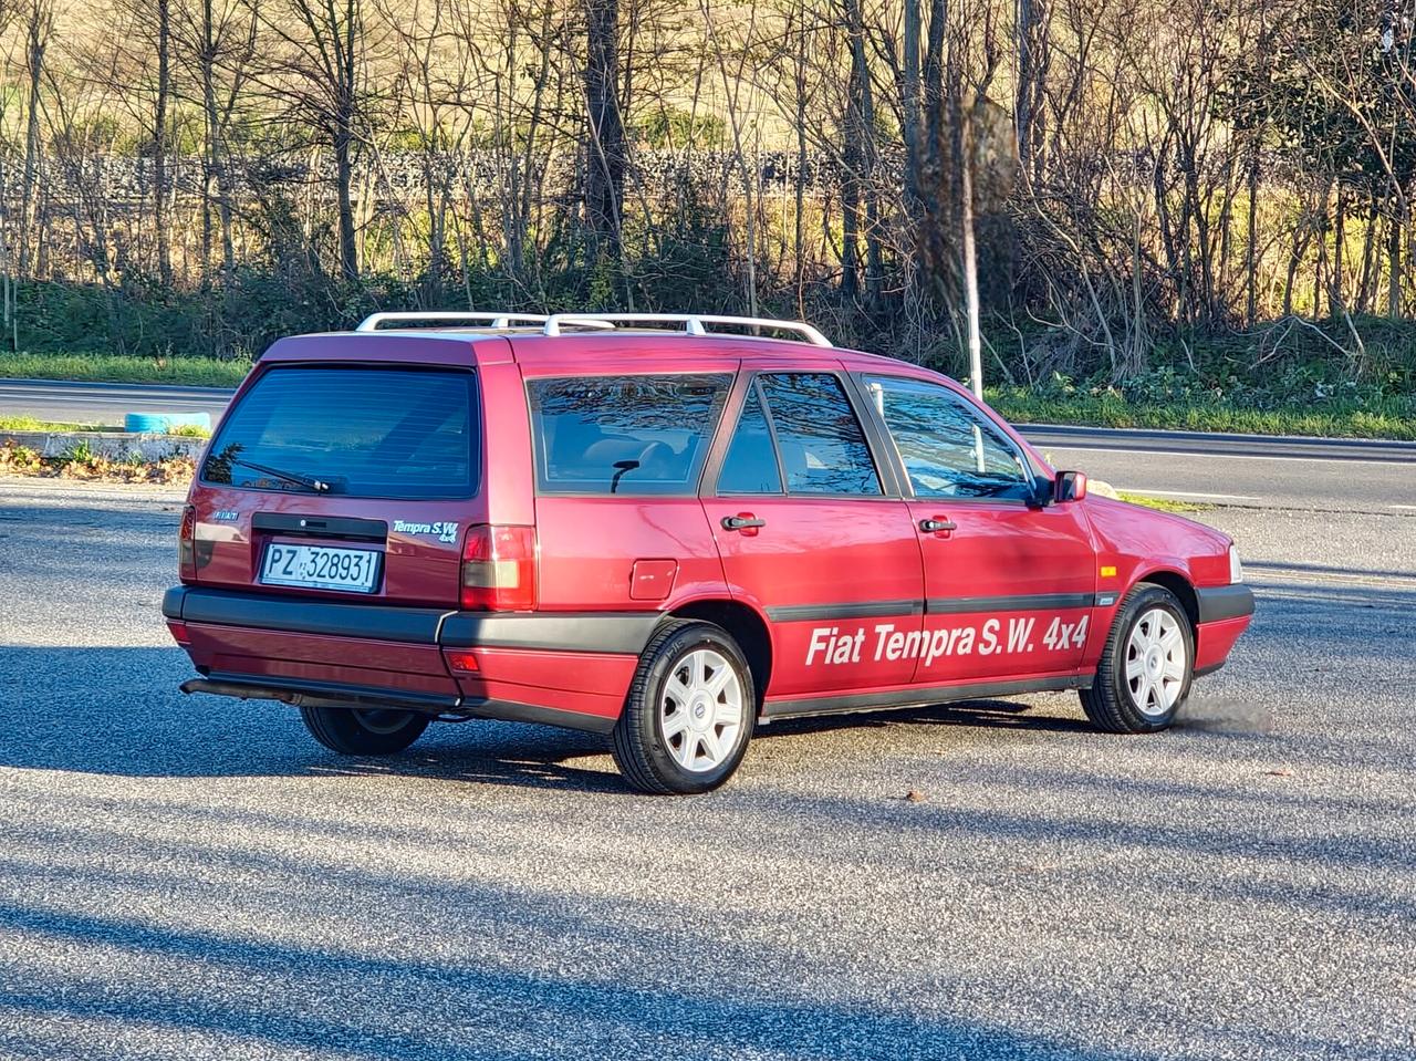
[[[183,697],[178,500],[0,480],[0,1057],[1416,1055],[1402,516],[1205,513],[1259,615],[1171,732],[799,721],[675,800],[583,735],[347,761]]]

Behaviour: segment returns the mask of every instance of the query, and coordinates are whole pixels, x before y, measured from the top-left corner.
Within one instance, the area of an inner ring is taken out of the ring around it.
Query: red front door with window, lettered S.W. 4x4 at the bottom
[[[1082,506],[1032,503],[1027,455],[950,388],[891,375],[861,381],[898,450],[925,560],[915,681],[1075,671],[1097,582]]]

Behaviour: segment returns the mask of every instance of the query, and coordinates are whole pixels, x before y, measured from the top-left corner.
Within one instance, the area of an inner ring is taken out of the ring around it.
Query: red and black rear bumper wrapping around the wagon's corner
[[[481,615],[174,586],[202,679],[187,693],[303,705],[398,705],[606,732],[657,612]],[[453,670],[445,649],[477,669]]]

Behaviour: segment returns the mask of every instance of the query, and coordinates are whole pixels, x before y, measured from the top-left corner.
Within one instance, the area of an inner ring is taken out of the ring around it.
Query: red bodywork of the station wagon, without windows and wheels
[[[469,499],[389,500],[200,476],[184,523],[191,562],[164,612],[197,669],[224,690],[606,731],[639,650],[671,616],[709,618],[753,646],[765,718],[1080,687],[1120,602],[1143,579],[1185,603],[1197,673],[1221,666],[1250,620],[1252,595],[1235,606],[1242,594],[1231,586],[1229,538],[1189,520],[1097,496],[1045,504],[912,497],[858,382],[864,374],[947,388],[1011,439],[1039,479],[1055,472],[957,384],[889,358],[663,331],[307,336],[276,343],[232,409],[265,375],[293,365],[474,374],[479,489]],[[753,378],[779,373],[837,377],[865,424],[881,494],[714,493]],[[646,374],[731,381],[705,439],[700,489],[538,490],[528,382]],[[355,523],[321,534],[341,520]],[[749,526],[729,527],[733,520]],[[750,526],[756,520],[763,524]],[[460,606],[463,547],[481,524],[534,528],[534,611]],[[449,526],[450,540],[430,530]],[[350,527],[362,537],[350,538]],[[270,545],[351,541],[381,554],[370,594],[259,581]],[[1216,594],[1228,595],[1218,611],[1206,606]]]

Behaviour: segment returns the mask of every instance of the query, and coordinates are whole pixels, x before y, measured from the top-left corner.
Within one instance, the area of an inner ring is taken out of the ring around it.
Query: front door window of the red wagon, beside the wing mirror
[[[1018,449],[953,391],[889,375],[865,382],[916,497],[1032,496],[1032,476]]]

